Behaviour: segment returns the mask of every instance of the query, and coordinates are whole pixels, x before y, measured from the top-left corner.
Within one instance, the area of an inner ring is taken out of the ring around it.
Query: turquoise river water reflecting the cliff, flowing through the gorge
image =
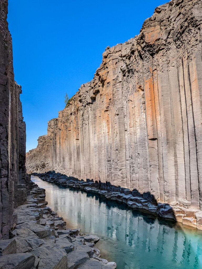
[[[102,258],[117,269],[201,269],[202,232],[127,208],[97,194],[51,184],[32,176],[46,189],[46,201],[67,221],[67,228],[100,236]]]

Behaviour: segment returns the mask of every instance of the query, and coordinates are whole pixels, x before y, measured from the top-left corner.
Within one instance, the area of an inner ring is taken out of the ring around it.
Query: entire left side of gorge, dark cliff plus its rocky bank
[[[45,189],[26,172],[21,86],[14,80],[8,0],[0,1],[0,269],[115,269],[100,258],[96,235],[66,227]]]

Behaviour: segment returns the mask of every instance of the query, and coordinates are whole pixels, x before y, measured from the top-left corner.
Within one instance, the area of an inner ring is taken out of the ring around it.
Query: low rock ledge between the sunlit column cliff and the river
[[[47,173],[33,173],[40,179],[50,183],[61,184],[62,186],[81,189],[86,192],[98,193],[107,199],[117,200],[127,204],[130,208],[136,208],[141,211],[159,215],[162,218],[168,218],[173,221],[181,222],[184,225],[193,228],[202,229],[202,211],[189,208],[189,205],[172,206],[165,203],[157,203],[148,193],[140,194],[137,190],[117,187],[92,181],[81,181],[73,177],[49,171]]]

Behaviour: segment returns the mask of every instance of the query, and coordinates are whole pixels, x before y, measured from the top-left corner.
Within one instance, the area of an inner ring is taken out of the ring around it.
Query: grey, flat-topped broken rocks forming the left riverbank
[[[100,258],[99,237],[66,228],[45,197],[45,189],[30,181],[25,204],[15,209],[17,225],[0,241],[0,269],[115,269]]]

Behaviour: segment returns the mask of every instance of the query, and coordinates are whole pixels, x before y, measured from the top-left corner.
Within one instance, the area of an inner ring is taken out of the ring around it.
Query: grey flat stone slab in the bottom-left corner
[[[29,253],[9,254],[0,257],[0,269],[33,269],[35,257]]]

